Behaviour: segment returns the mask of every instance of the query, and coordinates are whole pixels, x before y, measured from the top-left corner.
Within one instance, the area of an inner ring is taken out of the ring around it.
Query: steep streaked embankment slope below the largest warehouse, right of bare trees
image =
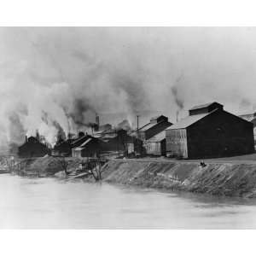
[[[256,197],[256,165],[196,162],[111,160],[103,180],[157,189],[182,189],[212,195]]]

